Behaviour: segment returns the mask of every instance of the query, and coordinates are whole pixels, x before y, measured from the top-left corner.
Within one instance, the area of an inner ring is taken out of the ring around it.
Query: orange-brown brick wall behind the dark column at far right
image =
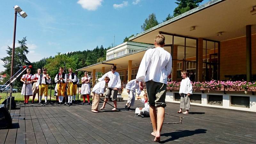
[[[246,37],[220,42],[220,80],[246,74]],[[256,74],[256,35],[252,35],[252,75]]]

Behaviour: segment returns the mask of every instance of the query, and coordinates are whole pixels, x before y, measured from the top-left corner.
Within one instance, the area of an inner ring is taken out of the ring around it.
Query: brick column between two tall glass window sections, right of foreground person
[[[203,38],[198,38],[197,81],[203,81]]]

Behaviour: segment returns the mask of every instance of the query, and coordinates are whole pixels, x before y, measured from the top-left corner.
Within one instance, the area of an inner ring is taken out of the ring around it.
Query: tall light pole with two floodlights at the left
[[[26,12],[22,11],[18,5],[14,6],[14,28],[13,28],[13,41],[12,41],[12,63],[11,63],[11,77],[13,75],[13,62],[14,62],[14,50],[15,50],[15,37],[16,37],[16,21],[17,21],[17,13],[19,12],[22,18],[26,18],[28,15]]]

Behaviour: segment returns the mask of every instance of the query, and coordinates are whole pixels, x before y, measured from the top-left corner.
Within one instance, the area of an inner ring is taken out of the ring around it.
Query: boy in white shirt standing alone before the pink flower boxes
[[[182,108],[186,109],[186,112],[183,114],[188,114],[188,110],[190,109],[190,99],[189,96],[192,94],[192,84],[190,83],[190,79],[187,76],[187,71],[180,72],[182,76],[182,80],[180,83],[180,110],[178,113],[182,113]]]

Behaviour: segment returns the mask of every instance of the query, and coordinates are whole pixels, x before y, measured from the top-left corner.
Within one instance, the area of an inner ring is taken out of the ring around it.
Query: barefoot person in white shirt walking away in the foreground
[[[164,40],[165,37],[163,35],[159,34],[156,36],[156,48],[145,52],[136,76],[141,90],[143,90],[143,82],[146,82],[148,103],[150,105],[149,114],[153,126],[151,134],[155,136],[154,141],[157,142],[160,141],[164,122],[167,76],[171,74],[172,70],[172,56],[164,50]]]

